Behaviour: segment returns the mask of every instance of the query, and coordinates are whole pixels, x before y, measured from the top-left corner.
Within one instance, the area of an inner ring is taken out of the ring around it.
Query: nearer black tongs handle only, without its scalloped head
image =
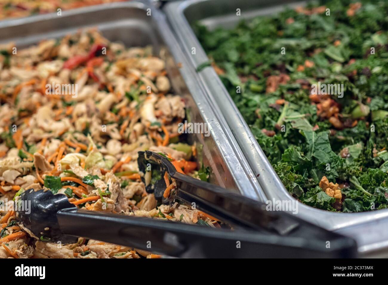
[[[61,231],[174,257],[353,257],[349,239],[333,238],[327,249],[309,238],[267,235],[256,231],[215,229],[207,226],[160,221],[68,209],[57,213]]]

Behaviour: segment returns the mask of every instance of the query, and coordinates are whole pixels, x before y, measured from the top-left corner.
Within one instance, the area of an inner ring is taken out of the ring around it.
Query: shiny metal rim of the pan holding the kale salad
[[[184,46],[184,50],[189,56],[191,63],[193,64],[192,68],[196,68],[196,66],[202,62],[209,60],[202,48],[201,43],[199,43],[184,15],[185,9],[199,2],[212,2],[212,0],[177,1],[167,3],[165,6],[165,12],[168,16],[168,20],[170,21],[175,33],[177,33],[181,44]],[[196,47],[195,57],[190,56],[191,53],[189,50],[191,50],[191,47]],[[201,79],[202,84],[205,85],[207,92],[211,92],[210,96],[213,97],[213,99],[220,105],[222,109],[227,108],[228,112],[223,110],[226,120],[232,129],[236,140],[239,143],[239,146],[242,148],[242,152],[246,155],[246,158],[249,161],[249,164],[254,173],[260,174],[257,179],[255,176],[255,180],[260,183],[267,197],[269,199],[275,198],[281,200],[288,200],[290,198],[294,199],[288,193],[283,183],[279,179],[279,176],[272,168],[263,150],[256,141],[255,136],[253,136],[248,125],[242,118],[241,113],[236,107],[236,104],[234,104],[225,86],[222,84],[217,73],[215,73],[213,67],[206,67],[197,74]],[[217,93],[212,93],[214,90],[217,90]],[[217,96],[214,96],[213,94],[217,94]],[[218,97],[221,97],[220,95],[223,95],[222,98],[217,100]],[[230,112],[232,111],[236,112],[236,116],[230,118]],[[228,116],[226,116],[225,113],[227,113]],[[234,128],[236,126],[239,126],[240,130],[243,128],[244,131],[236,133],[236,130],[239,130],[238,128]],[[338,213],[310,207],[301,202],[298,204],[300,218],[323,226],[329,230],[340,230],[345,227],[352,227],[367,222],[371,223],[372,221],[381,221],[381,219],[388,217],[388,209],[361,213]],[[388,221],[388,219],[386,220]],[[385,237],[388,237],[388,234],[385,235]]]

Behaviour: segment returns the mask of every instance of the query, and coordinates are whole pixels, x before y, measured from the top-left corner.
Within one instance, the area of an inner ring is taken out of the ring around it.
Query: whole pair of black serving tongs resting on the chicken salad
[[[178,173],[168,158],[139,152],[146,191],[164,204],[195,203],[230,228],[187,225],[150,218],[80,210],[66,195],[26,190],[19,201],[31,201],[31,212],[17,209],[17,221],[50,242],[75,243],[78,237],[130,246],[173,257],[355,257],[353,239],[324,230],[281,211],[191,176]],[[175,180],[175,193],[164,198],[165,180],[145,181],[147,172],[165,172]],[[148,183],[147,183],[148,182]],[[42,239],[42,238],[41,238]]]

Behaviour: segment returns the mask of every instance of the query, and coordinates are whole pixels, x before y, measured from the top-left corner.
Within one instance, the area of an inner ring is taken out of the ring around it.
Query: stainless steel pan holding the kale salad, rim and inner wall
[[[201,64],[209,61],[192,29],[196,22],[208,29],[232,28],[242,19],[273,14],[284,9],[286,5],[297,7],[304,3],[305,1],[289,0],[188,0],[167,3],[163,9],[191,61],[191,68],[196,70]],[[241,16],[236,16],[236,9],[241,10]],[[194,47],[196,52],[192,54]],[[260,184],[268,199],[294,199],[283,186],[213,67],[203,68],[197,72],[197,76],[212,103],[222,110],[255,173],[255,182]],[[328,230],[355,238],[360,253],[374,255],[377,252],[381,254],[382,249],[388,250],[388,209],[363,213],[334,213],[299,203],[298,216]]]

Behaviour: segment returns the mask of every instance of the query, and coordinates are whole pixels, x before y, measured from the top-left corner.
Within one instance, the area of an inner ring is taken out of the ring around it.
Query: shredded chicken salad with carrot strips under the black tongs
[[[67,195],[81,209],[220,227],[183,204],[161,204],[145,191],[138,151],[168,157],[181,173],[207,180],[195,145],[182,142],[185,102],[171,94],[165,62],[152,48],[126,48],[96,30],[12,54],[0,47],[0,257],[159,257],[80,237],[61,247],[20,228],[8,209],[24,190]],[[164,198],[176,183],[167,173]],[[152,182],[151,182],[152,183]],[[38,238],[38,240],[36,240]]]

